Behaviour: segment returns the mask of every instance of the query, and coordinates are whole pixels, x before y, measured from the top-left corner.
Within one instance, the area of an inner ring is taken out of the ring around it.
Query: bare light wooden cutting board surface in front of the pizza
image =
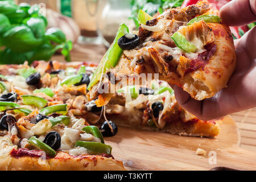
[[[105,138],[105,142],[128,170],[256,170],[256,153],[238,147],[238,138],[236,123],[227,116],[214,139],[118,127],[118,134]],[[196,155],[197,148],[207,151],[207,155]]]

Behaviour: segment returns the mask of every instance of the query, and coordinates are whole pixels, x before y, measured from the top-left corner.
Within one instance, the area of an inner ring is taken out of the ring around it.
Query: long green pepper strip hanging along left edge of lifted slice
[[[88,85],[88,90],[98,81],[101,80],[102,75],[106,72],[106,69],[114,68],[117,65],[120,56],[122,55],[123,50],[118,46],[118,39],[123,35],[129,33],[129,28],[125,23],[119,26],[117,35],[115,36],[114,42],[105,53],[104,57],[101,60],[101,63],[96,68],[96,71],[93,73],[90,84]]]

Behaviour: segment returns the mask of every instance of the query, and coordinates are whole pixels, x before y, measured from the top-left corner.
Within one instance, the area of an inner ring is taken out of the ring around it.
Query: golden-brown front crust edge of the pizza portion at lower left
[[[123,171],[121,160],[105,158],[99,155],[71,156],[58,152],[53,159],[40,159],[30,156],[14,158],[7,155],[0,159],[0,170],[8,171]]]

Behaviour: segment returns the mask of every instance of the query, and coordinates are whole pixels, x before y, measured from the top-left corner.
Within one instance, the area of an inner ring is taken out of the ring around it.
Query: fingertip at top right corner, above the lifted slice
[[[255,22],[255,0],[233,0],[220,9],[222,22],[228,26],[242,26]]]

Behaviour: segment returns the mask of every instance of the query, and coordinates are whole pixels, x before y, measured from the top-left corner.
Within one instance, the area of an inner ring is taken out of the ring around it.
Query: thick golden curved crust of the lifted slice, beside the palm
[[[225,88],[236,67],[236,53],[229,28],[219,23],[208,23],[208,26],[214,33],[216,52],[203,68],[180,80],[183,89],[196,100],[210,98]]]

